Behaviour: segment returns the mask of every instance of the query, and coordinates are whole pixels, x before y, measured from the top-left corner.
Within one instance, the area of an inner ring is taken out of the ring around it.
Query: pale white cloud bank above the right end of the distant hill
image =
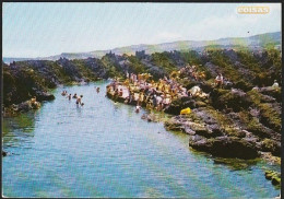
[[[270,5],[270,4],[269,4]],[[188,27],[188,40],[242,37],[281,31],[280,7],[273,4],[271,14],[232,13],[223,17],[211,16]],[[248,33],[249,32],[249,33]]]

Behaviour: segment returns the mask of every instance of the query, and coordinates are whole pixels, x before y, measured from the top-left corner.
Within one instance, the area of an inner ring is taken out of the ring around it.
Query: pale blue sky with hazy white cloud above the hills
[[[270,12],[239,14],[240,5]],[[14,58],[281,31],[280,3],[4,2],[2,11],[2,56]]]

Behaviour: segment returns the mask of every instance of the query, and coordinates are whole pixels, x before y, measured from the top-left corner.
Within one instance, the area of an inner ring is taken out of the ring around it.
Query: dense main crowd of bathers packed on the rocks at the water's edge
[[[163,110],[170,103],[182,96],[206,97],[208,95],[201,91],[188,90],[177,81],[177,77],[164,77],[155,82],[149,73],[133,74],[127,73],[127,79],[123,82],[115,79],[108,86],[107,92],[113,93],[115,97],[125,98],[126,104],[137,103],[135,112],[139,112],[141,106],[146,106],[149,109]]]

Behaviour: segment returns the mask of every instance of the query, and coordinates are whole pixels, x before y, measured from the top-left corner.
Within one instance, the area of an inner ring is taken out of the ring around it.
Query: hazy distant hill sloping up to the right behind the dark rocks
[[[39,58],[3,58],[3,61],[9,63],[12,61],[21,61],[21,60],[58,60],[60,57],[67,59],[86,59],[88,57],[102,58],[105,54],[111,52],[116,55],[134,55],[135,51],[145,50],[146,54],[153,52],[162,52],[162,51],[170,51],[170,50],[203,50],[206,47],[215,47],[215,48],[249,48],[249,49],[262,49],[267,47],[276,47],[281,48],[281,32],[275,33],[265,33],[260,35],[253,35],[249,37],[227,37],[220,38],[215,40],[179,40],[173,43],[164,43],[156,45],[132,45],[126,47],[119,47],[107,50],[94,50],[90,52],[78,52],[78,54],[67,54],[63,52],[61,55],[50,56],[50,57],[39,57]]]

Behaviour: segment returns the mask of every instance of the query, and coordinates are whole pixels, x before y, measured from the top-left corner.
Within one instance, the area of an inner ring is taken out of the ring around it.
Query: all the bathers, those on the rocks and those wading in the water
[[[123,81],[115,78],[114,81],[107,85],[107,93],[111,94],[115,102],[118,98],[122,98],[126,104],[135,105],[135,112],[139,113],[142,106],[147,109],[164,110],[170,105],[170,103],[182,96],[189,97],[201,97],[209,98],[209,93],[204,93],[200,86],[194,85],[190,90],[187,90],[179,83],[179,77],[186,74],[186,77],[191,77],[197,81],[204,80],[204,71],[197,71],[196,66],[187,66],[181,68],[179,71],[174,71],[169,74],[169,78],[164,77],[154,81],[150,73],[128,73]],[[224,83],[224,77],[221,72],[217,73],[214,80],[214,86],[222,87]],[[279,83],[274,81],[272,87],[277,89]],[[99,87],[95,86],[97,93],[99,93]],[[75,104],[83,106],[82,103],[83,95],[72,96],[63,91],[62,96],[67,96],[69,101],[75,98]]]

